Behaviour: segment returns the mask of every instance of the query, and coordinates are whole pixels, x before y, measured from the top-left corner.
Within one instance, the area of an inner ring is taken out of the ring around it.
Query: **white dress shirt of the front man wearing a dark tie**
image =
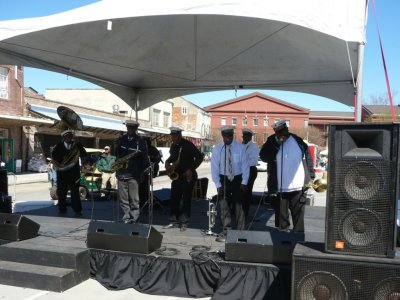
[[[232,141],[232,171],[233,175],[237,176],[242,174],[242,184],[247,185],[249,180],[250,167],[247,160],[245,145],[240,144],[238,141]],[[226,175],[225,168],[225,144],[221,142],[214,147],[211,155],[211,177],[217,188],[222,186],[220,175]]]

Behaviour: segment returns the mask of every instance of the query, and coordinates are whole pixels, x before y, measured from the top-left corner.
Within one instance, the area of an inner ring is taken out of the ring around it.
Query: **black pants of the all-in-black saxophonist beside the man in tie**
[[[192,191],[196,180],[197,173],[193,172],[191,181],[187,181],[186,177],[182,174],[179,174],[179,178],[177,180],[172,181],[172,203],[169,215],[169,220],[171,223],[189,223],[190,212],[192,208]]]

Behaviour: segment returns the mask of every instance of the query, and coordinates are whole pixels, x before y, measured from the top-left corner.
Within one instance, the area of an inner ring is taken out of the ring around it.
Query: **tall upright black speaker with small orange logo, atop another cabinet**
[[[399,124],[335,124],[329,130],[326,251],[393,257]]]

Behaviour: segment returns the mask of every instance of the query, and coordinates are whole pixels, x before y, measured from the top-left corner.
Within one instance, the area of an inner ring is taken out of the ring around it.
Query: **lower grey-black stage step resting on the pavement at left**
[[[80,282],[73,269],[0,260],[0,284],[62,292]]]

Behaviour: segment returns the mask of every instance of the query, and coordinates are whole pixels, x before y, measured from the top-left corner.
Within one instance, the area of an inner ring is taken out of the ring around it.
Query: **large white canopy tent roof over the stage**
[[[69,74],[138,109],[233,88],[304,92],[353,105],[367,4],[104,0],[0,22],[0,64]]]

